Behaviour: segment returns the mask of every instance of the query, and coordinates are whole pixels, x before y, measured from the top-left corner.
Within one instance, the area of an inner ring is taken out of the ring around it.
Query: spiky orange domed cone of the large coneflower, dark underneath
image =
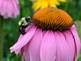
[[[65,30],[73,25],[72,18],[62,9],[44,8],[37,11],[32,20],[43,29]]]

